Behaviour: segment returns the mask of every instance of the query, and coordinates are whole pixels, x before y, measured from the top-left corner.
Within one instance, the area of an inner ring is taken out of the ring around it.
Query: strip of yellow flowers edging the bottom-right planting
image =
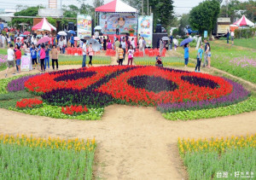
[[[216,151],[218,153],[223,153],[226,149],[234,148],[256,148],[256,134],[252,136],[231,136],[221,137],[220,139],[211,138],[207,139],[180,139],[178,138],[177,145],[180,154],[183,156],[187,152],[212,152]]]

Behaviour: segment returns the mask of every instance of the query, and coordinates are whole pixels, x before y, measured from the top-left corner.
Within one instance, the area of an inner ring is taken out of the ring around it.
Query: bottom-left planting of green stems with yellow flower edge
[[[94,139],[0,135],[0,178],[91,179],[95,150]]]

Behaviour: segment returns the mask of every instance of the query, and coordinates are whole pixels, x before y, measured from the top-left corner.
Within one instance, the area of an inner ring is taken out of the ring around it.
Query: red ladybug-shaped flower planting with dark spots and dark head
[[[210,101],[233,90],[224,78],[209,74],[142,66],[44,73],[28,79],[25,87],[43,94],[43,99],[54,105],[87,107],[104,107],[113,102],[157,106],[166,102]]]

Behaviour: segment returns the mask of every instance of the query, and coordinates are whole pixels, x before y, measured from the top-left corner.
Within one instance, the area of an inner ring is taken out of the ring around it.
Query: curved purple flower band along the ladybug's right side
[[[201,102],[176,102],[176,103],[160,103],[157,106],[157,109],[162,113],[183,111],[183,110],[195,110],[202,108],[212,108],[212,107],[221,107],[228,106],[230,104],[235,104],[241,102],[249,96],[250,92],[242,87],[241,84],[238,84],[228,78],[224,78],[230,84],[233,85],[233,91],[228,96],[222,96],[212,100],[204,100]]]

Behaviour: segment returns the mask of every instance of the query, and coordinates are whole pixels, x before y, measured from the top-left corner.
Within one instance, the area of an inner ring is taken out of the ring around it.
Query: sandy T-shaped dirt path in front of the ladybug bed
[[[0,72],[0,78],[3,76]],[[256,133],[256,111],[217,119],[168,121],[153,107],[112,105],[105,110],[102,120],[81,121],[32,116],[0,108],[0,134],[95,137],[98,143],[96,179],[176,180],[187,179],[177,152],[178,137],[210,138]]]

